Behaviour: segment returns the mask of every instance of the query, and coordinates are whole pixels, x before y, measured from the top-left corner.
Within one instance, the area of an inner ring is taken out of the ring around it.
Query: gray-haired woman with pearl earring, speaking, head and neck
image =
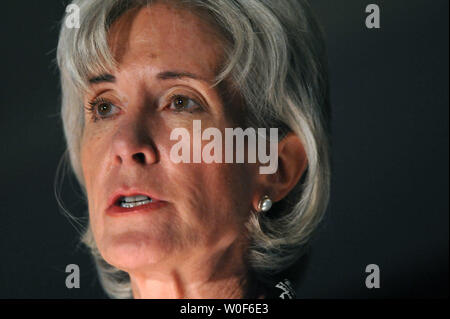
[[[308,5],[73,4],[79,28],[62,25],[57,52],[62,119],[105,291],[292,297],[267,282],[300,257],[329,189],[325,50]],[[236,128],[246,148],[219,139]],[[261,173],[269,148],[275,170]]]

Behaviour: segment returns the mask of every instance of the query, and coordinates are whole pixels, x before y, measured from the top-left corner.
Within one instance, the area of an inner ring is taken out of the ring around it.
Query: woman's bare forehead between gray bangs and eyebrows
[[[170,66],[206,78],[216,75],[223,53],[219,33],[199,14],[162,3],[127,11],[108,41],[119,68]]]

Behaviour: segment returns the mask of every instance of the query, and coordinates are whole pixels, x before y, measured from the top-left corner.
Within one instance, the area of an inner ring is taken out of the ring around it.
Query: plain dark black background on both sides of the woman
[[[333,180],[298,297],[448,297],[448,1],[311,2],[329,50]],[[370,3],[381,29],[365,27]],[[66,4],[2,3],[0,298],[106,297],[53,193]],[[81,217],[78,193],[66,179],[62,198]],[[80,289],[65,286],[72,263]],[[372,263],[381,288],[369,290]]]

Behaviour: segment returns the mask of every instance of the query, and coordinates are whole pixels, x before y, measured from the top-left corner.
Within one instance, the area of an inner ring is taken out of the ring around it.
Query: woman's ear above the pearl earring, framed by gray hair
[[[278,169],[274,174],[259,175],[260,189],[255,203],[268,195],[273,202],[282,200],[299,182],[308,165],[305,148],[300,138],[288,133],[278,143]]]

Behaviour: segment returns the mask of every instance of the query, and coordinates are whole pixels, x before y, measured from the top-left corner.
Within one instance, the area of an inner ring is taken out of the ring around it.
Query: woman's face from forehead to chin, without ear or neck
[[[238,106],[209,88],[222,57],[217,35],[198,16],[155,4],[117,20],[109,42],[118,69],[91,79],[81,150],[90,224],[102,256],[125,271],[140,271],[240,247],[257,166],[170,158],[176,128],[189,131],[192,154],[193,120],[222,133],[236,126],[231,114]],[[136,194],[154,202],[141,210],[118,212],[114,203],[110,209],[117,196]]]

